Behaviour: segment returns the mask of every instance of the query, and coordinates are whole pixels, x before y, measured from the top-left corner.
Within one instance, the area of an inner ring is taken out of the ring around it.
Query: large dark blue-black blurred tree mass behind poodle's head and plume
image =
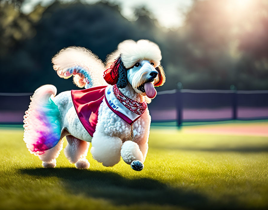
[[[2,59],[1,68],[12,69],[5,72],[12,83],[2,81],[2,91],[32,92],[42,84],[54,84],[59,91],[77,88],[71,80],[59,78],[52,69],[52,56],[64,47],[86,47],[105,61],[106,55],[123,40],[148,38],[155,41],[153,30],[150,31],[154,27],[150,18],[144,16],[131,23],[121,16],[118,6],[106,3],[54,2],[38,22],[33,22],[33,27],[35,36],[21,41],[12,56],[7,54]]]

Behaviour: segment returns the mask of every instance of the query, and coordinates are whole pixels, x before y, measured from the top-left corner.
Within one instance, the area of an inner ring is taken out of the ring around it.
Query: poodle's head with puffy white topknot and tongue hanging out
[[[159,47],[151,41],[123,41],[108,57],[104,79],[119,88],[126,87],[129,82],[135,92],[154,98],[154,87],[163,85],[166,80],[161,59]]]

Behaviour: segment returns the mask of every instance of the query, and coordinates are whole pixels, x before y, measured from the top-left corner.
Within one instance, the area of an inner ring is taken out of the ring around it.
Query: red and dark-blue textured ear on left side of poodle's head
[[[122,86],[121,85],[121,80],[122,80],[121,78],[122,78],[122,76],[124,77],[124,74],[126,74],[126,70],[125,70],[123,62],[121,61],[121,56],[119,56],[110,65],[110,67],[108,67],[105,70],[103,78],[110,85],[115,85],[115,84],[117,84],[119,82],[120,83],[119,86]],[[126,75],[125,75],[125,77],[126,77]],[[124,87],[126,87],[126,86],[124,86]]]

